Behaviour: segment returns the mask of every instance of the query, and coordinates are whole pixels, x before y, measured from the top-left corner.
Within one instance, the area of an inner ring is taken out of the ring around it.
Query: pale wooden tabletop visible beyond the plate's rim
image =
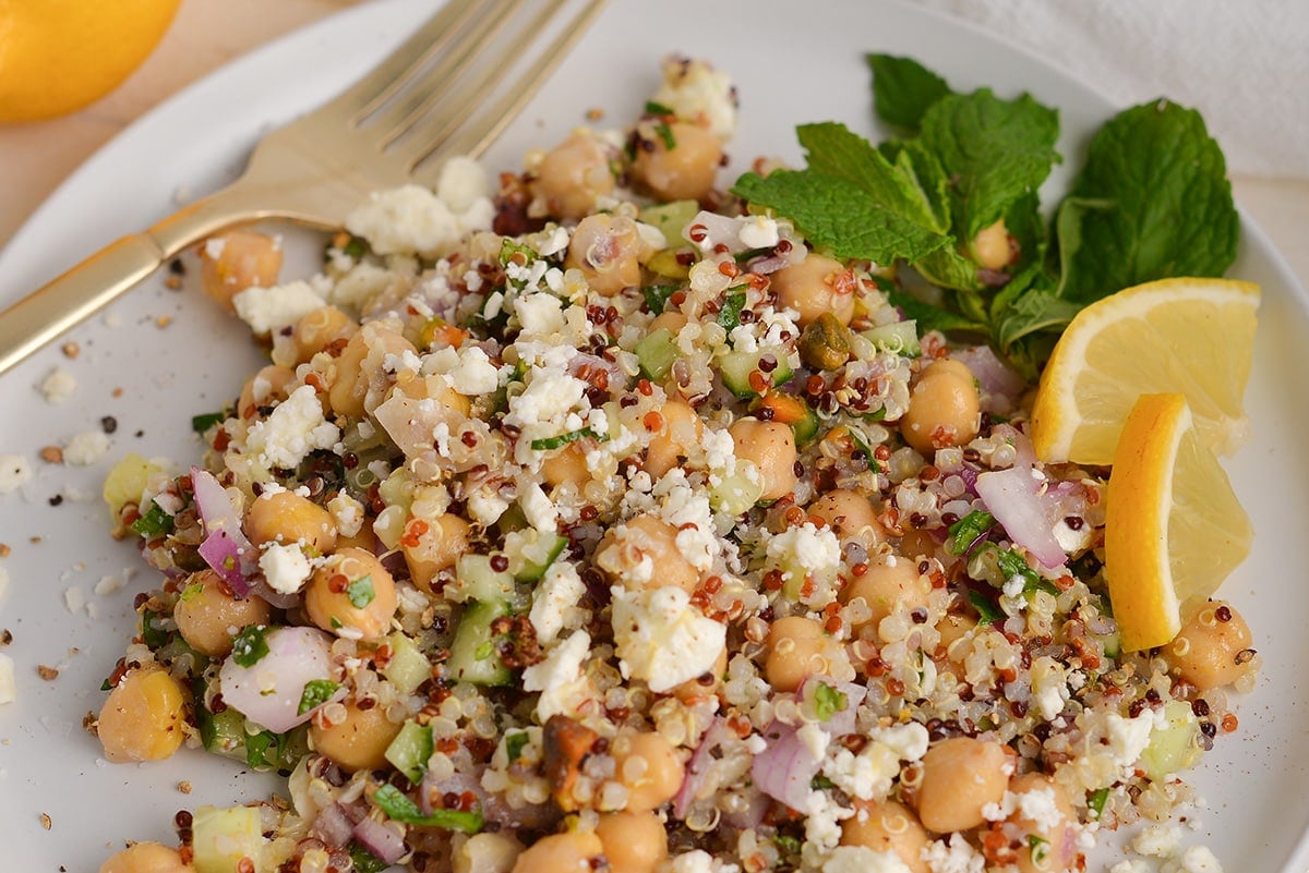
[[[368,0],[185,0],[151,59],[68,118],[0,127],[0,247],[42,200],[136,116],[233,58]],[[1233,179],[1237,200],[1309,286],[1309,179]],[[135,229],[124,229],[135,230]]]

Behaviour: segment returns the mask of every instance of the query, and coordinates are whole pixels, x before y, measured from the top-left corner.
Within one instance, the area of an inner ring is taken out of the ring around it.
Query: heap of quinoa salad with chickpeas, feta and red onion
[[[662,73],[377,192],[317,274],[202,246],[268,363],[105,484],[157,574],[93,729],[287,780],[106,870],[1059,872],[1128,826],[1115,873],[1220,869],[1175,821],[1255,684],[1237,606],[1124,651],[1109,470],[1039,461],[1030,374],[894,267],[723,187],[730,80]]]

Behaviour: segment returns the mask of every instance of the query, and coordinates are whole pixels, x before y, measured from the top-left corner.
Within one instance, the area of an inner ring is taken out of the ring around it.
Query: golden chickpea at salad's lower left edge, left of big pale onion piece
[[[186,693],[166,670],[130,670],[105,699],[97,733],[105,757],[115,763],[162,761],[186,736]]]

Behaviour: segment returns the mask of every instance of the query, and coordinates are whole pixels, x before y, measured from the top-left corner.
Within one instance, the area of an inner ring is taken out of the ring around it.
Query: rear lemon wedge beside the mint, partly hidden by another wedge
[[[1105,465],[1136,397],[1186,396],[1202,442],[1225,455],[1246,439],[1241,408],[1254,352],[1259,286],[1165,278],[1079,312],[1041,374],[1031,443],[1047,463]]]

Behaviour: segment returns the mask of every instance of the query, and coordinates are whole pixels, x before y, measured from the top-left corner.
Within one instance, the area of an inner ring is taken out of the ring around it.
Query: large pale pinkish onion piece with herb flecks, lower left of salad
[[[317,627],[266,631],[263,642],[268,652],[258,661],[242,667],[229,655],[223,663],[219,670],[223,702],[274,733],[304,724],[319,708],[298,712],[305,685],[331,678],[331,635]],[[339,689],[330,700],[344,694],[346,689]]]

